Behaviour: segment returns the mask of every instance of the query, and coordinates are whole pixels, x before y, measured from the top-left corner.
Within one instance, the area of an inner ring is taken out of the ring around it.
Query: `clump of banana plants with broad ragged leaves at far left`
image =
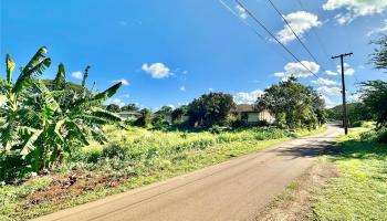
[[[12,82],[15,64],[7,55],[7,81],[0,78],[0,92],[7,97],[0,106],[0,118],[6,122],[0,125],[0,155],[18,159],[17,165],[8,165],[11,170],[20,166],[25,166],[24,172],[50,168],[64,152],[71,154],[73,148],[88,145],[90,140],[107,141],[102,125],[121,120],[102,108],[121,83],[98,94],[82,90],[85,85],[74,91],[66,86],[61,64],[50,90],[45,85],[48,81],[36,78],[51,64],[45,53],[46,49],[41,48],[21,70],[15,83]]]

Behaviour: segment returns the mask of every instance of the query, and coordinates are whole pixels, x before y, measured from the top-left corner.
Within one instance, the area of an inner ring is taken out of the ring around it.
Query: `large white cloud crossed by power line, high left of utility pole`
[[[314,27],[321,25],[321,21],[318,21],[318,17],[308,13],[306,11],[297,11],[284,15],[287,20],[289,24],[292,27],[293,31],[302,38],[303,34],[310,31]],[[285,24],[281,31],[276,33],[278,39],[281,43],[287,44],[289,42],[296,39],[293,34],[292,30]]]

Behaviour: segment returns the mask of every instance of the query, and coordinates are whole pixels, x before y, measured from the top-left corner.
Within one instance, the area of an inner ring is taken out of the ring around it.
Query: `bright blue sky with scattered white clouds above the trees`
[[[294,40],[266,0],[243,1],[304,65],[323,77],[318,82],[292,63],[231,0],[224,3],[238,18],[218,0],[0,2],[1,57],[10,53],[22,66],[45,45],[53,65],[44,77],[53,77],[63,62],[67,78],[80,82],[76,73],[91,65],[90,85],[95,82],[104,90],[114,81],[128,83],[111,101],[121,104],[178,106],[209,91],[231,93],[237,102],[249,103],[265,87],[296,74],[332,106],[341,101],[339,76],[334,74],[338,61],[330,56],[345,52],[355,53],[346,60],[353,74],[346,76],[349,96],[356,81],[387,76],[368,64],[374,49],[369,41],[387,33],[386,0],[273,0],[318,63]],[[254,25],[264,40],[241,21]],[[3,76],[4,64],[0,71]]]

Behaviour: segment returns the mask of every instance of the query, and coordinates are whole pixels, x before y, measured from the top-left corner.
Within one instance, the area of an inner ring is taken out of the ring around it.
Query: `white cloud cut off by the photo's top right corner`
[[[327,0],[323,4],[326,11],[344,9],[335,15],[337,23],[348,24],[358,17],[380,14],[387,9],[386,0]]]

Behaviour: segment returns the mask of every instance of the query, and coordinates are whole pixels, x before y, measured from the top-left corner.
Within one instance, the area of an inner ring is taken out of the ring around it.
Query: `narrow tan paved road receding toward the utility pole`
[[[342,130],[273,146],[192,173],[63,210],[53,221],[250,220],[304,170]]]

